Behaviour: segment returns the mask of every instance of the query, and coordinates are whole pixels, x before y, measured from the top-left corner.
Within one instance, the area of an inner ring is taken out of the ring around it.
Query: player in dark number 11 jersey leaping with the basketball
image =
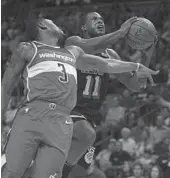
[[[88,13],[82,26],[83,38],[78,36],[70,37],[67,39],[66,45],[74,44],[81,47],[87,53],[97,54],[106,58],[107,61],[110,61],[109,58],[120,60],[119,55],[115,51],[105,49],[118,39],[124,37],[136,19],[136,17],[133,17],[127,20],[120,30],[105,35],[103,18],[96,12]],[[111,61],[114,63],[113,60]],[[99,112],[102,101],[105,99],[108,88],[108,74],[92,70],[78,70],[77,72],[78,99],[76,107],[71,113],[74,121],[73,139],[63,169],[63,178],[68,177],[72,168],[79,160],[78,164],[85,169],[90,165],[95,150],[95,148],[91,147],[96,138],[94,120]],[[135,92],[140,90],[136,74],[132,76],[131,73],[126,73],[124,75],[117,75],[117,78],[130,90]],[[151,76],[149,76],[149,80],[153,83]],[[86,151],[87,153],[85,154]],[[80,170],[81,176],[83,176],[83,169]]]

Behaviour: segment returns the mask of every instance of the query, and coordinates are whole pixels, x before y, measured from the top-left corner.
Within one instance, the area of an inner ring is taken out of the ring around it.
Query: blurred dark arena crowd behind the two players
[[[148,170],[155,163],[161,167],[163,178],[170,177],[170,0],[2,0],[1,4],[2,76],[12,51],[24,40],[27,20],[35,16],[49,17],[68,36],[80,35],[81,17],[89,11],[97,11],[104,17],[107,32],[119,29],[132,16],[145,17],[154,23],[159,42],[151,68],[160,69],[160,74],[154,77],[155,86],[148,86],[136,94],[116,79],[110,80],[112,90],[96,120],[96,156],[87,177],[135,177],[137,173],[133,168],[136,164],[132,166],[135,161],[142,164],[144,177],[154,178]],[[112,48],[127,61],[140,57],[140,51],[130,49],[124,40]],[[13,92],[2,127],[2,147],[22,99],[23,85],[20,82]],[[126,137],[128,141],[125,141]],[[122,145],[116,141],[120,139]],[[116,156],[116,149],[126,151],[130,158],[122,158],[122,154]],[[155,178],[162,178],[161,174]]]

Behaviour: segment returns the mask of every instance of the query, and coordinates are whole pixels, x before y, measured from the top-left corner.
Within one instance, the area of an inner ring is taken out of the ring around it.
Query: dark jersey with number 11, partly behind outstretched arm
[[[105,53],[98,56],[108,58]],[[109,74],[97,70],[77,70],[77,81],[77,104],[74,111],[95,116],[107,94]]]

